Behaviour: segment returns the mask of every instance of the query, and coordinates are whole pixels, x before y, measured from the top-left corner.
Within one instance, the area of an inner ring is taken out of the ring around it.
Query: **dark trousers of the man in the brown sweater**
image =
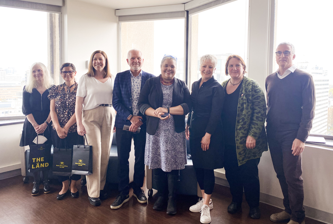
[[[299,156],[292,154],[292,146],[296,137],[297,130],[267,130],[269,151],[280,182],[284,210],[291,214],[292,220],[302,222],[305,218],[303,178],[301,176],[302,154]]]

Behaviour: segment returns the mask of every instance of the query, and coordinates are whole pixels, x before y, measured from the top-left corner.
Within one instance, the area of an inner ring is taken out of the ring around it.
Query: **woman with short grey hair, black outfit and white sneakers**
[[[214,169],[223,167],[223,129],[221,113],[224,101],[222,85],[214,78],[217,58],[204,55],[200,58],[201,78],[192,84],[192,112],[186,125],[190,140],[193,166],[202,193],[202,200],[190,207],[201,211],[200,222],[210,223],[211,196],[215,185]]]

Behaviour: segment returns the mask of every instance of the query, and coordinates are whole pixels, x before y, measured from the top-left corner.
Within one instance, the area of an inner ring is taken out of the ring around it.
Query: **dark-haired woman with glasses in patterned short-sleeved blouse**
[[[73,148],[78,141],[83,142],[83,137],[78,136],[76,131],[75,118],[75,100],[77,83],[74,80],[76,75],[75,66],[71,63],[65,63],[60,67],[60,74],[65,80],[60,85],[53,86],[50,89],[49,99],[51,101],[50,114],[52,117],[52,140],[56,148],[60,146],[60,139],[65,139],[67,147]],[[57,200],[61,200],[69,193],[68,176],[59,176],[62,182],[62,189],[57,196]],[[80,175],[74,174],[70,177],[70,196],[78,197],[76,181],[81,178]]]

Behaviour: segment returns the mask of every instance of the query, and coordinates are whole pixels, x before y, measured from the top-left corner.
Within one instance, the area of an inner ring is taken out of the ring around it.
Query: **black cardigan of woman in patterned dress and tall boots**
[[[148,79],[141,89],[140,97],[138,101],[138,109],[142,114],[148,108],[156,110],[162,107],[163,93],[160,82],[160,75]],[[190,108],[192,108],[191,96],[187,85],[184,81],[175,78],[174,92],[172,96],[172,107],[181,105],[184,110],[183,115],[173,115],[175,120],[175,130],[177,133],[185,130],[185,115],[188,114]],[[147,117],[147,133],[154,135],[158,126],[158,117]]]

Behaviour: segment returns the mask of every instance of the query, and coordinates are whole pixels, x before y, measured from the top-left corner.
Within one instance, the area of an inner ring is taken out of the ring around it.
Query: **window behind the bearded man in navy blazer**
[[[121,71],[130,69],[128,51],[138,49],[144,58],[142,70],[157,76],[163,56],[172,55],[178,59],[176,77],[185,80],[185,19],[121,22],[120,30]]]

